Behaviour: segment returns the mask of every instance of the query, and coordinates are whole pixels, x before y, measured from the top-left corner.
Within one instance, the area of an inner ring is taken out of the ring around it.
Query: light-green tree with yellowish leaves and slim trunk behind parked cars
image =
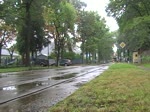
[[[50,4],[50,5],[49,5]],[[74,7],[65,0],[51,0],[45,8],[45,20],[47,30],[53,35],[55,43],[55,53],[58,61],[63,56],[64,46],[68,42],[69,33],[74,30],[76,11]]]

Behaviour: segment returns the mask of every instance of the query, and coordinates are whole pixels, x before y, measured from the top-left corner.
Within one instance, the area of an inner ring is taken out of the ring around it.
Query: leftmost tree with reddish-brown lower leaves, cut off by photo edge
[[[0,1],[0,65],[1,65],[1,50],[8,43],[15,40],[15,13],[12,7],[13,1]]]

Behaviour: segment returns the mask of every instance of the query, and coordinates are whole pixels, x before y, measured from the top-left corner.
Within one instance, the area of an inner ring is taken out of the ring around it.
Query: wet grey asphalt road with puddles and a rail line
[[[0,112],[47,112],[109,65],[0,74]]]

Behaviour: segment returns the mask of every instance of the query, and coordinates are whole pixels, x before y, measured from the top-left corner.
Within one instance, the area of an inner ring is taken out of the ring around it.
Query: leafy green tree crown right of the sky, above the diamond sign
[[[150,1],[115,0],[107,7],[108,15],[115,17],[119,25],[119,42],[126,43],[126,49],[140,51],[150,47]],[[132,13],[131,13],[132,12]]]

